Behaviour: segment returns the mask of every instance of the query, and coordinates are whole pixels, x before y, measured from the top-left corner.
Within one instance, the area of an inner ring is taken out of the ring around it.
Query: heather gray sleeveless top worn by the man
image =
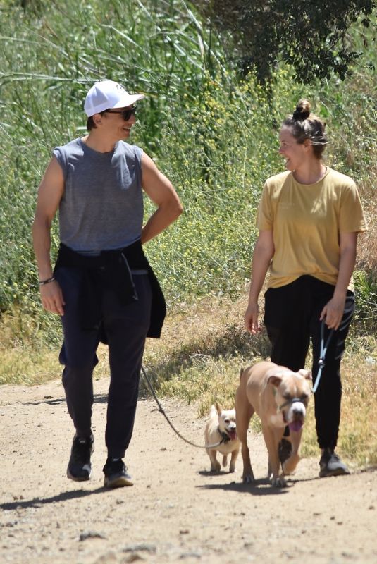
[[[127,247],[142,233],[142,149],[118,141],[99,153],[75,139],[54,149],[64,174],[61,242],[78,252]]]

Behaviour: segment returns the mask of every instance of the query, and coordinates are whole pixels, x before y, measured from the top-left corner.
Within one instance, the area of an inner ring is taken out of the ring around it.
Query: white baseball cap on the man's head
[[[87,93],[84,110],[85,114],[90,117],[107,109],[132,106],[142,98],[144,98],[144,94],[128,94],[118,82],[100,80]]]

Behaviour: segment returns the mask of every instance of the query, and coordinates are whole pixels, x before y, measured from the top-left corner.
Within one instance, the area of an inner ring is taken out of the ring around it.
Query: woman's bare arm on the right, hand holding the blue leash
[[[340,233],[340,262],[338,281],[333,298],[323,307],[320,319],[326,317],[329,329],[338,329],[345,309],[347,287],[356,262],[357,233]]]

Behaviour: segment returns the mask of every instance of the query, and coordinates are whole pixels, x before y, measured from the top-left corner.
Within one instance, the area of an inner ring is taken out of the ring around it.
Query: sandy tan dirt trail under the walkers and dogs
[[[0,387],[0,561],[13,564],[377,562],[377,471],[318,479],[299,463],[288,489],[264,479],[266,448],[250,432],[257,484],[211,474],[204,450],[176,436],[153,400],[140,400],[127,463],[130,488],[106,491],[108,379],[94,383],[90,482],[71,482],[72,439],[60,381]],[[194,407],[163,401],[173,424],[204,441]]]

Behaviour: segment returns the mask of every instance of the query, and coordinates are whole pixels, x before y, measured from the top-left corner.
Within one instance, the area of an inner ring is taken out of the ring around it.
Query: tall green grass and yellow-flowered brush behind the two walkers
[[[58,341],[58,320],[39,307],[30,226],[51,149],[85,133],[82,103],[95,80],[147,94],[132,142],[183,200],[185,214],[146,246],[169,305],[245,291],[255,209],[265,178],[282,169],[278,127],[299,97],[328,122],[328,164],[354,176],[372,205],[376,82],[367,68],[347,82],[306,86],[279,68],[267,94],[252,75],[238,80],[220,39],[183,0],[38,0],[26,11],[14,4],[0,8],[0,311],[13,319],[18,343]],[[373,45],[368,58],[376,60]],[[57,246],[54,226],[53,255]],[[356,281],[371,331],[376,271],[366,258]]]

